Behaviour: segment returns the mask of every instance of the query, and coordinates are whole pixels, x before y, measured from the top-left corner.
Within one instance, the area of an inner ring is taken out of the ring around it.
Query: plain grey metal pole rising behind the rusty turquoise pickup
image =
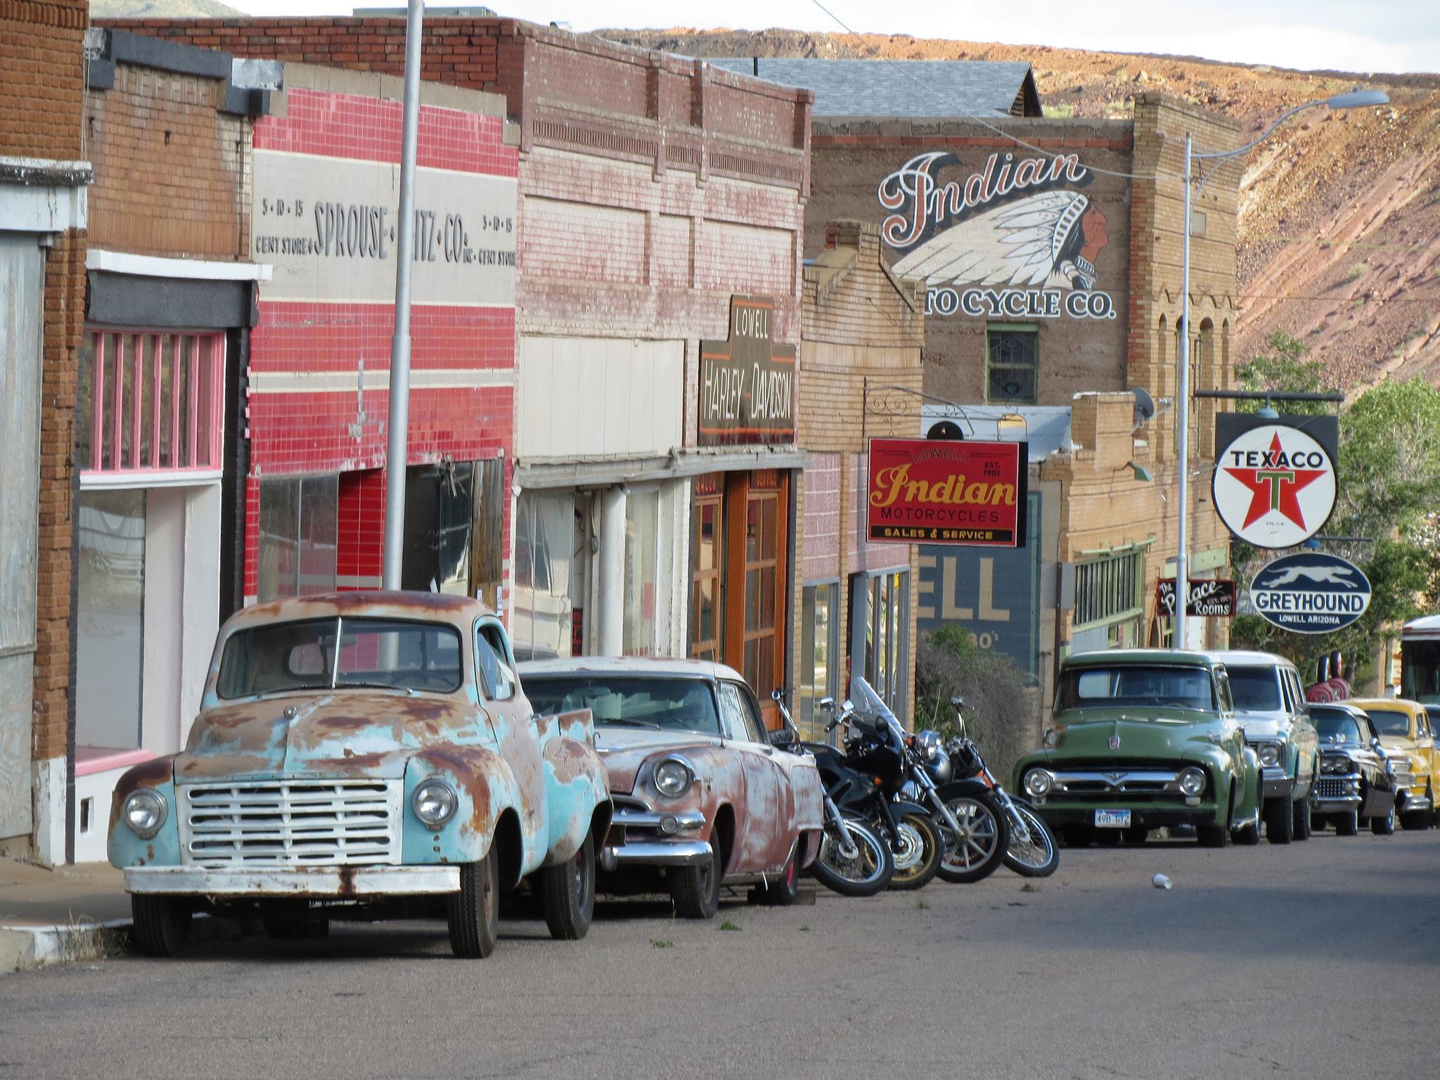
[[[405,464],[410,435],[410,271],[415,266],[415,148],[420,127],[420,29],[425,0],[405,20],[405,121],[400,131],[400,222],[395,248],[395,337],[390,338],[390,429],[384,455],[384,563],[380,588],[400,588],[405,554]]]

